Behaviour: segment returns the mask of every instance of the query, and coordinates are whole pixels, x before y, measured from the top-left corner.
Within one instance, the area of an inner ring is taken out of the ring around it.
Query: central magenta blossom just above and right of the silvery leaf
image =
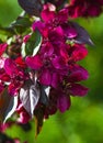
[[[46,55],[42,52],[34,57],[26,57],[25,63],[32,69],[38,70],[38,81],[45,86],[58,87],[59,81],[64,75],[68,74],[68,63],[62,56],[58,56],[55,53],[53,55]],[[55,84],[56,81],[56,84]]]

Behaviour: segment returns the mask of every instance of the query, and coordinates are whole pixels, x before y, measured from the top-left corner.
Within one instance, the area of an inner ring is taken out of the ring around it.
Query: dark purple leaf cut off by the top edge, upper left
[[[41,15],[42,2],[41,0],[18,0],[19,4],[31,15]]]

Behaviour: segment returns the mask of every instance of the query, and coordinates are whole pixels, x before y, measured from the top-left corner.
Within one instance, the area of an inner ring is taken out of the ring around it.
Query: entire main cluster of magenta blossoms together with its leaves
[[[38,133],[49,114],[70,108],[70,96],[88,94],[79,81],[89,74],[78,62],[92,42],[68,13],[68,8],[56,11],[55,6],[44,4],[31,33],[0,44],[0,120],[16,112],[18,122],[26,123],[35,116]]]

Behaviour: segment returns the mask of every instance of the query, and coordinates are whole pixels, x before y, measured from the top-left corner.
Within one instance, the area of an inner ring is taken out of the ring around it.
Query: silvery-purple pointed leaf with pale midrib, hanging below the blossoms
[[[34,109],[39,99],[39,88],[31,80],[26,81],[20,90],[20,100],[27,113],[33,117]]]

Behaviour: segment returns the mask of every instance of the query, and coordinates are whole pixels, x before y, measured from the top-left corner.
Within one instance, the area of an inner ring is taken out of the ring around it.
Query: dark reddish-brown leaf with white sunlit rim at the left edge
[[[0,95],[0,120],[5,122],[15,111],[18,106],[18,97],[12,97],[5,88]]]

